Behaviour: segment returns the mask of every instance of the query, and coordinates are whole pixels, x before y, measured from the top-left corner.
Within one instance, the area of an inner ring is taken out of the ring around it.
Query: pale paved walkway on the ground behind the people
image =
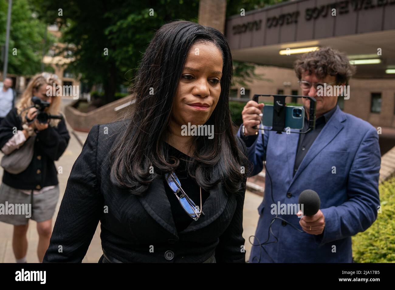
[[[70,175],[71,168],[73,167],[73,164],[79,154],[81,153],[81,145],[78,142],[77,138],[75,137],[74,134],[78,136],[78,138],[82,141],[82,143],[85,142],[88,133],[82,133],[82,132],[77,132],[73,131],[71,127],[67,124],[69,133],[70,133],[70,141],[68,144],[68,147],[62,157],[58,161],[55,161],[56,167],[62,166],[63,167],[63,173],[58,174],[58,179],[59,179],[59,187],[60,187],[60,196],[59,196],[59,202],[56,206],[56,211],[55,215],[53,217],[53,224],[55,224],[55,219],[56,216],[58,215],[58,210],[60,206],[60,201],[63,198],[64,191],[66,189],[66,184],[68,177]],[[3,156],[3,154],[0,152],[0,158]],[[0,167],[0,176],[3,176],[3,168]],[[1,182],[1,179],[0,179]],[[244,227],[244,232],[243,232],[243,237],[246,240],[245,243],[245,248],[246,248],[246,258],[248,259],[248,256],[250,254],[250,249],[251,245],[248,242],[248,237],[251,235],[254,235],[255,233],[255,228],[256,224],[258,223],[258,206],[262,200],[261,196],[258,196],[254,193],[251,193],[249,191],[246,192],[246,198],[245,198],[245,204],[244,204],[244,220],[243,220],[243,227]],[[12,231],[13,231],[13,226],[2,223],[0,222],[0,263],[14,263],[15,258],[14,254],[12,251]],[[38,243],[38,234],[36,230],[36,222],[30,220],[29,222],[29,229],[28,229],[28,252],[27,252],[27,257],[26,260],[29,263],[38,263],[38,258],[37,258],[37,243]],[[85,256],[83,262],[87,263],[97,263],[100,256],[102,256],[102,247],[101,247],[101,241],[100,241],[100,223],[98,225],[98,228],[96,229],[96,232],[94,234],[94,237],[92,239],[92,242],[90,243],[87,255]]]

